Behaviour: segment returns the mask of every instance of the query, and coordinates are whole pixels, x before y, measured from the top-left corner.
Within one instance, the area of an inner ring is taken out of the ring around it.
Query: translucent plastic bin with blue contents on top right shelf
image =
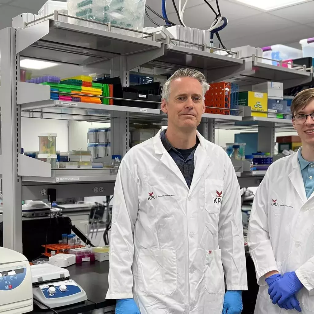
[[[263,47],[263,57],[273,60],[294,60],[302,57],[302,50],[295,49],[284,45],[273,45]],[[265,59],[257,59],[258,62],[262,60],[263,63],[278,65],[276,61],[270,61]]]

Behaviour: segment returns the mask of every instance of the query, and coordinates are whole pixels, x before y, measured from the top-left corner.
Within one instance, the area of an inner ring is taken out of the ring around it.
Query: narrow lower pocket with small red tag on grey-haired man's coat
[[[208,293],[225,291],[224,269],[221,261],[221,250],[206,251],[205,258],[205,288]]]

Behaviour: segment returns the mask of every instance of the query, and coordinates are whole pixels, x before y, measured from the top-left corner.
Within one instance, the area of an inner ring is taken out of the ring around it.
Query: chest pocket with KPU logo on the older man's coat
[[[205,208],[208,214],[219,214],[224,194],[224,181],[215,179],[205,179]]]

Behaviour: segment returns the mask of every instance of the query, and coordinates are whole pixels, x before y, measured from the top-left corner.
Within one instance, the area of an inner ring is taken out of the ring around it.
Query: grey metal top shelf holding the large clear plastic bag
[[[49,19],[17,30],[17,49],[23,57],[88,64],[139,51],[160,48],[157,41]]]

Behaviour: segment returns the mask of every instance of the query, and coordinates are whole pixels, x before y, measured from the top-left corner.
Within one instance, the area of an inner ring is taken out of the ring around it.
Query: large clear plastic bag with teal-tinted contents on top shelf
[[[67,0],[68,14],[97,22],[111,22],[111,32],[123,35],[142,37],[142,34],[122,30],[121,26],[143,31],[146,0]],[[106,25],[87,22],[79,19],[68,19],[69,23],[80,26],[108,30]]]

